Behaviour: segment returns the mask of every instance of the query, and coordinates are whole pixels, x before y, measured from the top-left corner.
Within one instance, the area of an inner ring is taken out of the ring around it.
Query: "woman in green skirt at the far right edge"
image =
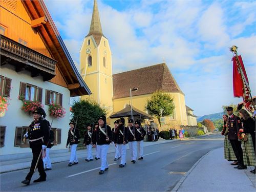
[[[254,170],[250,172],[255,174],[255,121],[244,109],[239,111],[239,116],[243,127],[240,131],[245,134],[244,137],[242,136],[244,165],[254,166]]]

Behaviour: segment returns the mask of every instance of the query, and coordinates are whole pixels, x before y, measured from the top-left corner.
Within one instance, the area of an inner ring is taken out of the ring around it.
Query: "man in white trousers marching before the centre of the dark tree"
[[[93,161],[92,146],[93,146],[93,125],[88,123],[86,133],[84,134],[83,145],[87,146],[87,159],[86,161]]]

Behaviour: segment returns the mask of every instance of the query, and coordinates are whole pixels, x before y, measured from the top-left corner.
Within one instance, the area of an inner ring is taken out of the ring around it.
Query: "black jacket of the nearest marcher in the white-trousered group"
[[[112,131],[111,131],[111,127],[109,125],[103,125],[103,127],[101,127],[101,129],[106,133],[106,130],[108,130],[108,137],[109,137],[109,141],[106,141],[106,136],[104,133],[102,133],[100,131],[100,129],[98,128],[95,131],[95,137],[93,137],[93,144],[97,145],[109,145],[111,143],[111,139],[112,139]]]

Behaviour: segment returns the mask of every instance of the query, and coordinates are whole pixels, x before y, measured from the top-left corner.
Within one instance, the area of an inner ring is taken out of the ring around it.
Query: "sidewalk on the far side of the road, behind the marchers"
[[[161,143],[175,142],[175,141],[179,141],[179,139],[164,140],[164,139],[160,138],[157,142],[144,142],[144,147],[157,145],[157,144],[161,144]],[[129,150],[129,145],[127,145],[127,150]],[[93,152],[93,156],[95,157],[96,149],[93,148],[92,152]],[[112,144],[110,144],[108,153],[114,153],[114,152],[115,152],[115,147],[114,147],[114,143],[112,143]],[[67,163],[68,163],[69,157],[70,157],[70,152],[68,151],[68,149],[61,153],[59,153],[58,151],[54,151],[54,150],[50,151],[50,158],[51,158],[52,163],[59,163],[59,162],[64,162],[64,161],[67,161]],[[80,158],[86,159],[87,150],[86,149],[78,150],[77,157],[79,159]],[[31,160],[32,160],[32,153],[30,154],[30,157],[26,157],[26,158],[22,158],[22,159],[14,159],[14,160],[7,160],[7,161],[1,160],[0,173],[12,172],[14,170],[29,168],[31,165]]]

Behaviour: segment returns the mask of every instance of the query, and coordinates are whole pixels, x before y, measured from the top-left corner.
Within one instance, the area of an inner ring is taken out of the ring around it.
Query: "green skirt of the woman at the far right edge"
[[[248,136],[248,140],[242,141],[244,165],[255,166],[255,153],[251,134],[246,133],[246,135]]]

